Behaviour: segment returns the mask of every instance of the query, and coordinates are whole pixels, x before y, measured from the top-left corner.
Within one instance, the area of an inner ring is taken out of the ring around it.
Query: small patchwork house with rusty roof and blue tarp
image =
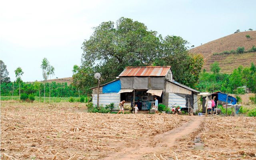
[[[98,86],[90,89],[92,103],[97,105]],[[157,97],[159,104],[181,106],[182,110],[188,110],[190,104],[195,112],[198,93],[176,82],[170,66],[126,67],[116,80],[100,86],[99,104],[114,103],[118,110],[119,102],[125,100],[130,109],[135,102],[140,104],[139,110],[149,110]]]

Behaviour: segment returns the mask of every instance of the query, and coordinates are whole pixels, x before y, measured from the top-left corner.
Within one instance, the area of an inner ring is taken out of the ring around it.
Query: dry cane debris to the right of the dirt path
[[[256,117],[216,117],[203,122],[201,129],[204,150],[190,148],[196,136],[190,134],[175,149],[150,154],[146,159],[256,160]]]

